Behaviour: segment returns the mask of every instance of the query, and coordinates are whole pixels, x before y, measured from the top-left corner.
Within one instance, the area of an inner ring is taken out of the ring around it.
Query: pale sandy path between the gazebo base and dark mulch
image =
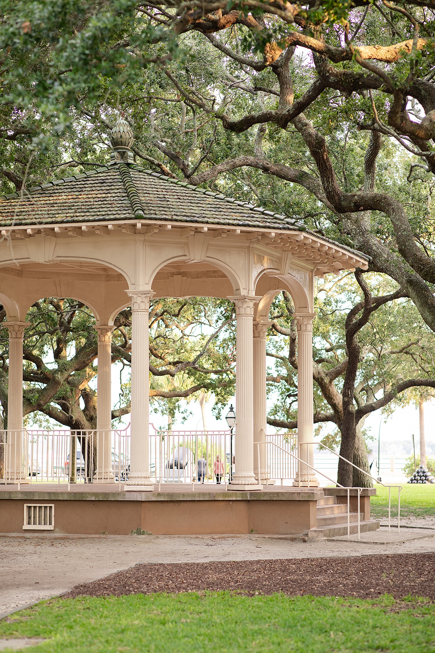
[[[314,543],[245,535],[175,537],[112,535],[56,539],[0,538],[0,614],[140,562],[210,562],[435,552],[435,537],[402,544]]]

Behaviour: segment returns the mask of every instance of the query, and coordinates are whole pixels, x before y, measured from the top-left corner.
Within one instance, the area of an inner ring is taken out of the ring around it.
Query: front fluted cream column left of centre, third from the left
[[[125,490],[153,490],[149,468],[149,302],[153,291],[127,291],[132,309],[130,473]]]

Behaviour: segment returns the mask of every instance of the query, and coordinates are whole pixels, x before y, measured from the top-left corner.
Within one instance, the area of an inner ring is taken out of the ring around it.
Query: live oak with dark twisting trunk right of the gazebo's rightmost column
[[[369,472],[362,432],[365,419],[374,411],[391,413],[394,407],[405,405],[410,392],[433,392],[435,336],[395,283],[374,274],[356,272],[355,276],[356,280],[346,274],[318,284],[314,424],[318,434],[329,425],[322,442],[334,449],[341,443],[342,455]],[[273,325],[267,340],[267,355],[274,362],[267,376],[269,396],[277,397],[267,422],[289,429],[297,428],[297,332],[292,314],[292,300],[284,293],[271,308]],[[346,411],[350,397],[354,410]],[[349,439],[341,437],[349,431],[346,413],[354,423],[354,449]],[[339,483],[343,467],[338,466]],[[352,485],[371,483],[353,469]]]

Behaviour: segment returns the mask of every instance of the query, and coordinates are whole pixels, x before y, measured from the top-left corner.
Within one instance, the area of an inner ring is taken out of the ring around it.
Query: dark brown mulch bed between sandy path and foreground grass
[[[367,599],[387,593],[396,599],[409,594],[435,599],[435,554],[139,564],[99,581],[77,585],[63,596],[205,590],[231,590],[249,596],[284,592],[289,596],[312,594]]]

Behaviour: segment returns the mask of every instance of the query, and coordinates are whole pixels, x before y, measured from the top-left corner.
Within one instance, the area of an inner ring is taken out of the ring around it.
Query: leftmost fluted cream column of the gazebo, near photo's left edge
[[[25,460],[27,447],[23,451],[23,335],[29,327],[26,322],[6,323],[9,330],[9,373],[8,373],[8,445],[5,468],[8,480],[23,483],[28,479]]]

